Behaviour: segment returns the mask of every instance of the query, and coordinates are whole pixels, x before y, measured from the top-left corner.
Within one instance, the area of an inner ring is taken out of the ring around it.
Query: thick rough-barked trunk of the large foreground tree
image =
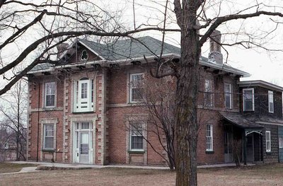
[[[192,13],[190,11],[190,13]],[[197,185],[197,98],[199,90],[199,37],[195,18],[183,15],[180,77],[176,88],[176,185]]]

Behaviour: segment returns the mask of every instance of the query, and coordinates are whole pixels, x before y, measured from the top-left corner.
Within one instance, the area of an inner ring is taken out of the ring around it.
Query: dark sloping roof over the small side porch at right
[[[262,125],[251,122],[247,120],[243,115],[240,115],[238,113],[232,113],[232,112],[219,112],[222,117],[224,117],[224,120],[227,122],[230,122],[231,124],[235,124],[238,127],[241,127],[243,129],[259,129],[263,128]]]

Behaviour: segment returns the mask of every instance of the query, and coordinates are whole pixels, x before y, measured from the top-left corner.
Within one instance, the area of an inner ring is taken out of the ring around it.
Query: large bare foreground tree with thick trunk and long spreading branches
[[[95,15],[84,13],[79,11],[79,6],[76,6],[76,2],[88,4],[91,7],[96,7]],[[42,42],[47,42],[48,47],[42,50],[41,54],[33,60],[32,63],[28,65],[21,73],[13,74],[11,77],[6,77],[9,79],[9,83],[0,90],[0,95],[8,91],[11,86],[16,83],[22,76],[24,76],[30,69],[36,64],[41,62],[52,62],[50,55],[47,54],[48,51],[54,49],[55,45],[60,42],[70,40],[71,37],[77,37],[81,35],[97,35],[97,36],[117,36],[117,37],[127,37],[134,33],[138,33],[146,30],[159,30],[165,33],[166,31],[176,31],[180,32],[180,63],[174,65],[175,67],[171,73],[162,74],[158,69],[163,64],[167,62],[163,61],[162,52],[159,59],[157,60],[157,69],[154,76],[156,78],[161,78],[162,76],[173,75],[177,79],[176,88],[176,109],[175,109],[175,127],[177,136],[177,149],[176,150],[176,185],[197,185],[197,98],[199,95],[200,86],[200,65],[199,59],[201,54],[202,46],[216,28],[221,25],[228,24],[229,21],[245,20],[248,18],[255,18],[258,16],[269,16],[272,18],[283,17],[282,7],[277,4],[267,5],[259,3],[259,1],[254,1],[254,5],[248,7],[242,7],[240,10],[236,11],[223,11],[226,1],[206,1],[206,0],[174,0],[174,11],[175,22],[178,24],[179,28],[169,29],[166,28],[166,18],[168,1],[166,1],[166,11],[163,13],[164,20],[163,26],[159,27],[157,25],[152,26],[148,23],[143,23],[141,25],[134,24],[134,29],[124,30],[122,27],[110,27],[108,30],[104,30],[100,25],[105,25],[105,23],[110,23],[113,21],[113,17],[108,16],[108,20],[101,19],[100,12],[104,12],[102,8],[99,8],[91,1],[59,1],[54,3],[54,1],[45,1],[42,4],[32,4],[25,3],[22,1],[0,1],[1,16],[1,30],[11,30],[11,34],[4,38],[1,42],[0,50],[3,50],[8,44],[11,44],[17,40],[21,40],[21,36],[27,32],[29,28],[33,25],[43,28],[46,30],[47,35],[44,37],[37,38],[33,42],[25,47],[24,50],[20,52],[18,57],[4,62],[1,61],[2,68],[0,69],[0,75],[4,75],[7,71],[13,69],[17,66],[23,59],[33,52]],[[275,2],[276,3],[276,2]],[[223,5],[224,4],[224,5]],[[9,5],[21,5],[23,8],[20,11],[13,11],[9,9]],[[72,7],[73,6],[73,7]],[[72,8],[69,8],[72,7]],[[76,11],[77,10],[77,11]],[[211,11],[209,13],[209,11]],[[25,17],[24,13],[33,13],[33,20],[25,20],[19,26],[17,23],[20,22],[18,17]],[[107,14],[107,12],[104,12]],[[51,18],[51,24],[43,24],[42,18]],[[55,26],[57,18],[64,18],[62,23],[64,25]],[[65,21],[67,19],[67,21]],[[136,18],[134,18],[135,20]],[[18,20],[17,23],[14,21]],[[109,22],[109,20],[111,20]],[[280,24],[282,21],[271,20],[275,25]],[[26,23],[25,23],[26,22]],[[115,22],[115,21],[114,21]],[[76,23],[83,24],[78,26]],[[200,24],[199,24],[200,23]],[[117,24],[119,25],[119,24]],[[142,25],[145,25],[144,27]],[[148,25],[148,26],[147,26]],[[83,29],[76,29],[83,28]],[[86,28],[86,29],[85,29]],[[264,47],[262,42],[258,42],[265,36],[270,35],[273,30],[267,30],[262,32],[260,37],[256,37],[254,33],[244,33],[246,37],[238,37],[241,32],[238,30],[235,32],[230,32],[232,34],[236,33],[236,38],[232,38],[231,42],[221,42],[221,46],[233,46],[241,45],[245,48],[250,47]],[[60,38],[59,42],[58,39]],[[56,43],[56,44],[54,44]],[[44,59],[44,60],[42,60]]]

